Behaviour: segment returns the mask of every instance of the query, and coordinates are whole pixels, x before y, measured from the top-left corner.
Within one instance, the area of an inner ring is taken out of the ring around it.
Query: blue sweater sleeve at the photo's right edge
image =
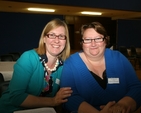
[[[138,76],[129,60],[122,54],[120,54],[119,59],[122,59],[126,78],[127,94],[125,96],[133,98],[136,101],[138,109],[141,106],[141,81],[138,79]]]

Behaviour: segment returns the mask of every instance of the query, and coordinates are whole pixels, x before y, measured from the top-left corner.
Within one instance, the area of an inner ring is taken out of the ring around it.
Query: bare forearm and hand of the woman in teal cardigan
[[[57,106],[64,102],[67,102],[67,97],[71,96],[72,90],[70,87],[61,88],[55,97],[38,97],[34,95],[28,95],[27,98],[21,104],[22,107],[35,108],[35,107],[47,107]]]

